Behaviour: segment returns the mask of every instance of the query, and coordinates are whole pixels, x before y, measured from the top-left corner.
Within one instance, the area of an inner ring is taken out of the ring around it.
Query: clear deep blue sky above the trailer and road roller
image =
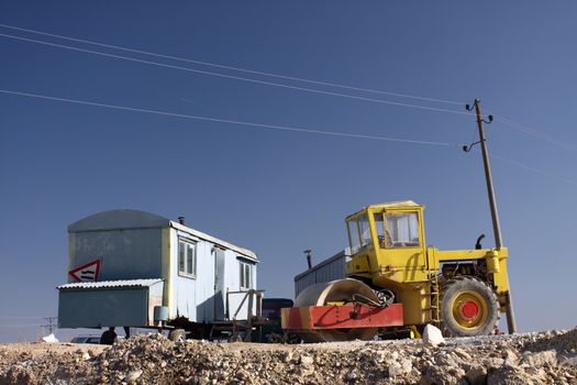
[[[0,23],[256,72],[457,102],[482,100],[521,331],[577,321],[575,1],[1,1]],[[426,241],[493,244],[473,116],[355,91],[91,46],[203,75],[0,36],[0,89],[359,135],[328,136],[71,105],[0,92],[0,341],[37,336],[66,282],[67,226],[132,208],[256,251],[259,287],[346,245],[363,206],[426,205]],[[514,124],[513,124],[514,125]],[[537,131],[531,131],[537,130]],[[529,131],[529,132],[528,132]],[[531,133],[531,134],[530,134]],[[506,158],[508,161],[503,161]],[[30,318],[26,318],[30,317]],[[501,324],[506,326],[504,320]],[[65,331],[74,336],[74,331]]]

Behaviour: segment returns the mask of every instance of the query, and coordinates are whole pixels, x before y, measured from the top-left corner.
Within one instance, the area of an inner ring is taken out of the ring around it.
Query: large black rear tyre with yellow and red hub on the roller
[[[450,279],[441,292],[441,327],[447,337],[490,334],[498,322],[495,292],[474,277]]]

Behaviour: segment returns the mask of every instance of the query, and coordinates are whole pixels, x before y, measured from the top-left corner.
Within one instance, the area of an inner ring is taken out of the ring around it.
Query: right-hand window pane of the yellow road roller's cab
[[[386,248],[419,246],[419,219],[417,212],[387,213],[384,241]]]

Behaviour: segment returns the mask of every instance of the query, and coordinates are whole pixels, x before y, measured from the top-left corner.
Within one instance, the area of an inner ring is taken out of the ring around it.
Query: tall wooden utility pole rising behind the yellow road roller
[[[489,164],[489,152],[487,151],[487,141],[485,139],[485,127],[484,127],[484,123],[491,123],[492,122],[492,116],[489,116],[489,121],[486,122],[484,119],[482,119],[482,113],[481,113],[481,109],[480,109],[480,100],[479,99],[475,99],[475,103],[474,103],[474,107],[475,107],[475,113],[477,114],[477,125],[479,128],[479,143],[480,146],[481,146],[481,154],[482,154],[482,164],[485,166],[485,179],[487,182],[487,194],[489,196],[489,206],[490,206],[490,209],[491,209],[491,219],[492,219],[492,231],[493,231],[493,235],[495,235],[495,246],[496,249],[501,249],[502,246],[502,238],[501,238],[501,224],[499,222],[499,212],[497,211],[497,199],[495,198],[495,189],[492,187],[492,176],[491,176],[491,166]],[[470,107],[469,105],[467,105],[465,107],[468,111],[471,111],[473,110],[473,107]],[[469,152],[470,151],[470,147],[474,145],[474,144],[477,144],[477,143],[473,143],[471,145],[469,145],[468,147],[467,146],[464,146],[463,150],[465,152]],[[517,332],[517,320],[515,320],[515,317],[514,317],[514,311],[513,311],[513,300],[512,300],[512,297],[511,297],[511,287],[509,286],[509,293],[508,293],[508,305],[507,305],[507,328],[509,329],[509,333],[512,334],[514,332]]]

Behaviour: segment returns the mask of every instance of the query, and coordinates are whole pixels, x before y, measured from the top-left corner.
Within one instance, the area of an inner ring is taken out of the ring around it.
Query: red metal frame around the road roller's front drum
[[[364,304],[284,308],[286,330],[386,328],[403,326],[402,304],[376,308]]]

